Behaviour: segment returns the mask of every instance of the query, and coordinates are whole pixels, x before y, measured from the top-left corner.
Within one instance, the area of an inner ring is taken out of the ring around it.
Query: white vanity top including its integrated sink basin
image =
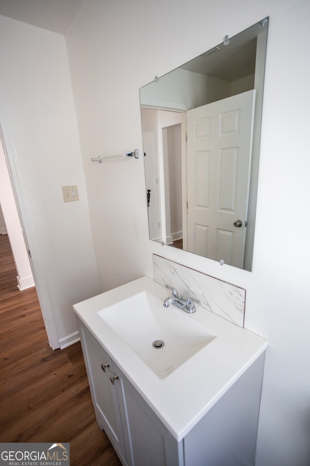
[[[194,314],[166,308],[169,294],[141,277],[74,309],[111,356],[111,375],[122,371],[181,441],[268,343],[199,304]],[[153,348],[155,340],[163,340],[164,347]]]

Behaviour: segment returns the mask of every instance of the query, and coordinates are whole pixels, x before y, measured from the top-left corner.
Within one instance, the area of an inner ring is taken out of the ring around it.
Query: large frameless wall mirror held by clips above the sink
[[[140,89],[150,239],[251,270],[268,18]]]

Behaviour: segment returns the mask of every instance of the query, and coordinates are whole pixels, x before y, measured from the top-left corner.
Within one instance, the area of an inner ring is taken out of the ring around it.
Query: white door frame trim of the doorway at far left
[[[31,218],[24,184],[19,168],[18,157],[14,142],[14,137],[6,109],[4,95],[0,83],[0,138],[6,158],[6,164],[13,188],[17,212],[22,227],[26,248],[31,251],[30,265],[33,274],[33,280],[38,294],[41,312],[47,331],[49,346],[52,350],[60,348],[59,338],[56,331],[55,319],[48,297],[47,286],[43,278],[40,256],[37,250],[35,235],[31,227]]]

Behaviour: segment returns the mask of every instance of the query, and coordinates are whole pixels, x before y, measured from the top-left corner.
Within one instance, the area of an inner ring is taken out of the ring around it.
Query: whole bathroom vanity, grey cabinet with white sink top
[[[96,419],[127,466],[253,465],[267,341],[169,294],[142,277],[74,306]]]

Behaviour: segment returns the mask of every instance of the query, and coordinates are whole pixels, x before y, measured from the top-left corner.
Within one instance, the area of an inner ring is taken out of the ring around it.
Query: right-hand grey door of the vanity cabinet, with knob
[[[183,466],[178,443],[138,391],[112,361],[123,422],[128,466]]]

